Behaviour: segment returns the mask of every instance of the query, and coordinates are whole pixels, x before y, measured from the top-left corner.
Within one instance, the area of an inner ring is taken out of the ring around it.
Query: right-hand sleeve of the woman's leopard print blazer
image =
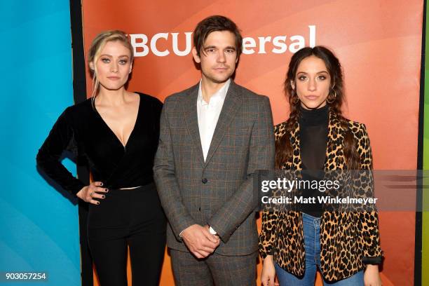
[[[360,188],[364,189],[365,197],[374,196],[374,184],[372,177],[372,151],[365,125],[355,123],[352,130],[357,139],[357,151],[360,155],[360,170],[367,178],[361,178]],[[359,212],[358,228],[360,231],[359,243],[362,247],[362,262],[364,264],[381,264],[383,252],[380,247],[379,216],[376,210]]]

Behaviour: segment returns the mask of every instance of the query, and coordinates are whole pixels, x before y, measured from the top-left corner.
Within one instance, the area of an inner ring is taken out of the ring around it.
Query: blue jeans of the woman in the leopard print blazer
[[[317,268],[320,268],[320,217],[312,217],[309,214],[302,214],[304,226],[304,248],[306,250],[306,271],[304,277],[297,276],[283,270],[275,264],[280,286],[311,286],[315,283]],[[325,286],[364,286],[364,271],[359,271],[349,278],[329,283],[323,280]]]

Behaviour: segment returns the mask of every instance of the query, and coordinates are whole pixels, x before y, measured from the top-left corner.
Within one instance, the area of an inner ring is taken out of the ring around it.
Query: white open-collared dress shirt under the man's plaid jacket
[[[200,141],[201,147],[203,148],[204,161],[207,158],[210,143],[212,142],[212,137],[214,134],[214,129],[216,128],[219,115],[222,111],[222,107],[224,106],[226,93],[228,92],[230,83],[231,79],[226,81],[224,86],[222,86],[222,88],[217,90],[217,92],[214,93],[212,97],[210,97],[209,102],[205,102],[203,99],[203,92],[201,91],[200,81],[197,97],[197,114],[198,129],[200,130]]]

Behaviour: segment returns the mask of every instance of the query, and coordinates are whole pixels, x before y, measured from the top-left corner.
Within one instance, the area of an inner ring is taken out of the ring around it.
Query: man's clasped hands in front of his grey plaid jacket
[[[219,237],[209,232],[208,226],[193,224],[182,232],[182,238],[191,253],[197,258],[204,258],[219,246]]]

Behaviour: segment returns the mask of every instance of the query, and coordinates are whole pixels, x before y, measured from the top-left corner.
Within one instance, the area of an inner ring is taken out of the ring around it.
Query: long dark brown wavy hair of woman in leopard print
[[[275,168],[282,168],[282,165],[292,158],[292,144],[290,142],[290,134],[298,124],[300,115],[300,104],[296,90],[292,88],[292,83],[295,82],[297,69],[302,60],[306,57],[315,56],[325,62],[325,66],[331,76],[329,95],[327,104],[329,113],[336,114],[336,118],[341,123],[344,130],[343,154],[346,158],[346,166],[348,170],[358,170],[360,168],[360,156],[355,147],[355,137],[351,132],[348,119],[341,114],[341,107],[345,103],[343,93],[343,72],[338,58],[331,50],[324,46],[315,46],[314,48],[302,48],[295,53],[289,64],[285,80],[285,93],[290,104],[290,117],[286,121],[286,133],[280,139],[275,141]],[[296,85],[294,85],[296,87]],[[329,148],[329,147],[328,147]]]

